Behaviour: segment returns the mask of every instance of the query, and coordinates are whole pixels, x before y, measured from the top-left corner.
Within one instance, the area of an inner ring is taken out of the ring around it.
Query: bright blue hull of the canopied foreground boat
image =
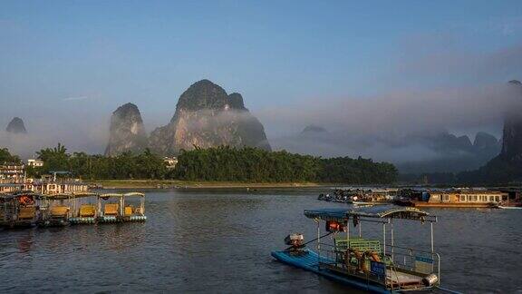
[[[319,257],[317,253],[312,250],[303,250],[302,254],[292,254],[289,251],[273,251],[272,257],[274,257],[275,260],[279,260],[285,264],[294,266],[295,268],[312,271],[320,276],[323,276],[324,278],[332,279],[352,288],[362,289],[372,293],[391,293],[390,290],[384,289],[380,285],[369,284],[366,281],[360,281],[357,279],[350,279],[348,277],[335,274],[331,270],[319,268],[319,260],[321,260],[322,263],[332,263],[333,260]]]

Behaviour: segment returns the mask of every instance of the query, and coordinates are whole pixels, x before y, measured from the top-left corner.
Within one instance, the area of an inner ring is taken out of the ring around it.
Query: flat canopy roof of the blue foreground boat
[[[391,205],[375,205],[351,209],[320,209],[304,211],[309,219],[346,221],[349,218],[379,218],[426,220],[430,214],[412,207],[396,207]]]

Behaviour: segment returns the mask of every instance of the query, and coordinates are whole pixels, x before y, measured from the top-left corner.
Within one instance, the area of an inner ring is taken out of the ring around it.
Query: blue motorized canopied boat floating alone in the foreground
[[[434,250],[436,216],[417,208],[379,205],[360,208],[304,211],[317,224],[317,237],[303,243],[299,234],[286,238],[285,250],[272,256],[287,265],[312,271],[351,288],[375,293],[401,293],[440,288],[440,254]],[[399,221],[398,221],[399,220]],[[404,220],[428,223],[430,248],[418,250],[395,245],[393,226]],[[351,232],[353,223],[358,230]],[[382,226],[382,240],[364,237],[362,224]],[[321,227],[326,233],[322,235]],[[326,239],[327,236],[332,238]],[[294,237],[293,237],[294,236]],[[390,238],[388,238],[390,236]],[[315,250],[305,245],[315,243]]]

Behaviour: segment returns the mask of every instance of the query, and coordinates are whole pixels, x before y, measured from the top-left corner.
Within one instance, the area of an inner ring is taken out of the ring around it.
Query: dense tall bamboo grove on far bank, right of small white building
[[[391,183],[390,163],[339,157],[323,159],[256,148],[218,147],[181,152],[174,177],[186,181],[315,181],[350,184]]]

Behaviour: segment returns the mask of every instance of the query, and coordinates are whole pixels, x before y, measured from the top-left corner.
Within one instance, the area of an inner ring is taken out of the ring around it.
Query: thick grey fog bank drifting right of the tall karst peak
[[[522,99],[517,100],[502,83],[343,99],[304,107],[298,116],[293,110],[286,113],[280,108],[264,121],[276,124],[283,123],[278,118],[285,118],[286,122],[328,126],[329,132],[295,132],[272,138],[275,149],[321,156],[361,155],[395,162],[404,172],[464,171],[476,169],[498,154],[502,114],[518,103]]]

